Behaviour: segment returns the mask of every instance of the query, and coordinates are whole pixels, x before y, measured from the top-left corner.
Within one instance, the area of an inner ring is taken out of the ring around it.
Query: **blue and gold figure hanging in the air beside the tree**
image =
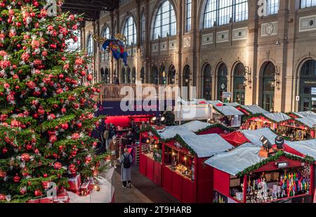
[[[112,53],[112,56],[116,59],[122,59],[124,65],[127,64],[127,57],[129,56],[125,51],[126,37],[123,34],[117,34],[114,39],[107,39],[105,37],[98,37],[93,35],[93,39],[102,44],[102,48]]]

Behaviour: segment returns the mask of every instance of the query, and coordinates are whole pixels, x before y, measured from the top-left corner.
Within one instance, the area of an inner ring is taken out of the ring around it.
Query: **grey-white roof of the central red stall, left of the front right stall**
[[[179,135],[182,140],[192,148],[197,157],[212,157],[213,155],[232,150],[234,146],[226,142],[218,134],[206,134],[201,136]]]

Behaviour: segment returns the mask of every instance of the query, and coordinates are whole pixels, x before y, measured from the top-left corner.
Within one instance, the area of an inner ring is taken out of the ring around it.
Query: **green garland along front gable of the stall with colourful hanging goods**
[[[293,160],[305,162],[308,164],[315,163],[315,159],[312,157],[306,156],[305,158],[302,158],[302,157],[298,157],[294,154],[287,154],[284,151],[279,151],[274,156],[268,157],[267,159],[264,159],[262,162],[259,162],[258,164],[254,164],[252,166],[249,166],[248,168],[244,169],[244,171],[237,173],[237,176],[242,177],[244,175],[249,175],[251,172],[256,171],[257,169],[261,168],[262,166],[265,166],[265,164],[277,161],[282,156],[287,157],[288,159],[293,159]]]

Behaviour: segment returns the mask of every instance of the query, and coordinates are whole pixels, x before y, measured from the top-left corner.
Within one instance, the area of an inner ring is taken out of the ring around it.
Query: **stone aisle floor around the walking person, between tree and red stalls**
[[[179,201],[165,192],[160,186],[141,175],[138,166],[132,169],[131,189],[122,188],[121,168],[114,171],[114,187],[116,203],[179,203]]]

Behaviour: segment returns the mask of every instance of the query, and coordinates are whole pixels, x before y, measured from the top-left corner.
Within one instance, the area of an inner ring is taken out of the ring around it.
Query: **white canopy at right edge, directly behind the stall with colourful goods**
[[[294,150],[316,159],[316,140],[285,141],[285,143]]]

